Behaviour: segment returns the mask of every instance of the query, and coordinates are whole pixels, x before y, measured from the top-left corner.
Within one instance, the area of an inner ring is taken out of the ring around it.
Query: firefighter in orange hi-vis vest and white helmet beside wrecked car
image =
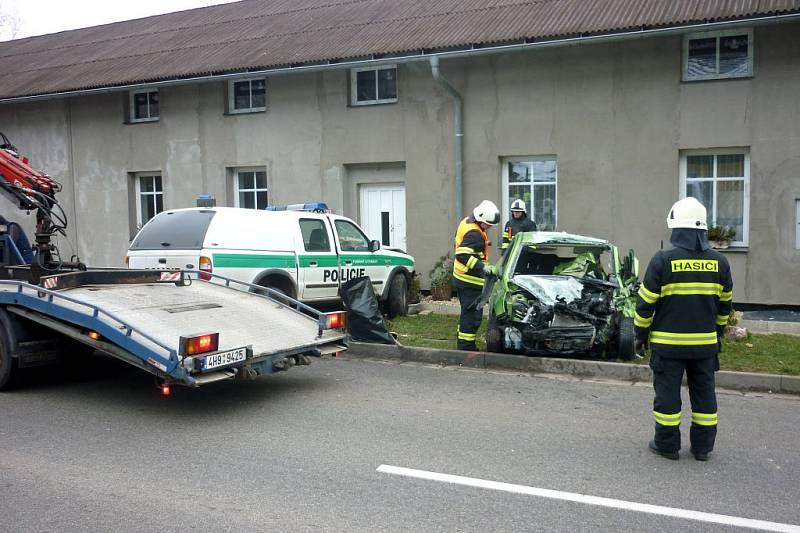
[[[483,310],[478,300],[485,278],[495,275],[494,265],[489,265],[489,237],[486,230],[500,221],[500,210],[489,200],[484,200],[458,225],[453,261],[453,285],[458,290],[461,318],[458,323],[458,349],[478,349],[475,339],[481,325]]]

